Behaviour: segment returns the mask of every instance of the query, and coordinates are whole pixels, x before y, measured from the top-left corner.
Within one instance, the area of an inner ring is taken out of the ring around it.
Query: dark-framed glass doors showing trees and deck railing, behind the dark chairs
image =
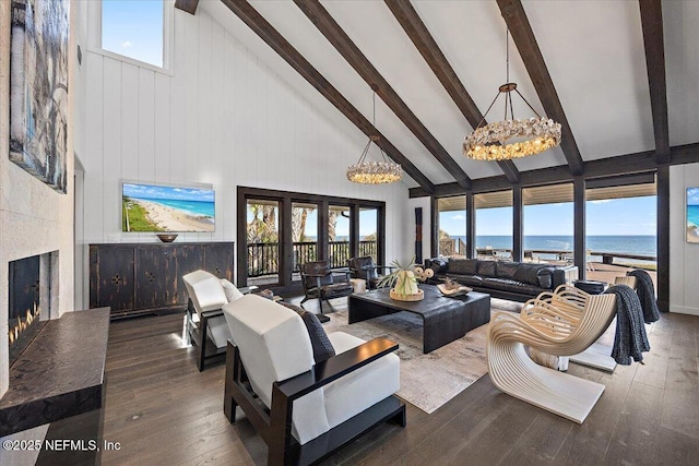
[[[237,210],[238,286],[298,286],[311,261],[383,263],[383,202],[239,187]]]

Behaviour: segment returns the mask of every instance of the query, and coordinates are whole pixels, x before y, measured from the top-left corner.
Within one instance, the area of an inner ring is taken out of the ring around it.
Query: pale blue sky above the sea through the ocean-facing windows
[[[699,189],[696,198],[699,204]],[[656,198],[629,198],[588,201],[588,236],[655,235]],[[571,202],[524,206],[524,236],[572,236]],[[450,236],[465,236],[465,212],[446,212],[439,216],[440,228]],[[476,211],[476,236],[512,235],[512,207]]]

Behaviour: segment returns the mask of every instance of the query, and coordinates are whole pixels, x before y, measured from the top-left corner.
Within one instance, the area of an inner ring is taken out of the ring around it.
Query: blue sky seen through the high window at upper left
[[[163,1],[103,0],[102,48],[163,67]]]

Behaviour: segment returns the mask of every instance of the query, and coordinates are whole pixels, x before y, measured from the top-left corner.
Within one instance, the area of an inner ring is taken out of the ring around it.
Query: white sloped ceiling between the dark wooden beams
[[[251,4],[371,120],[369,85],[292,1]],[[502,174],[495,163],[474,162],[461,154],[471,126],[383,1],[324,0],[321,4],[471,178]],[[638,2],[558,0],[523,1],[523,5],[583,160],[653,150]],[[506,82],[506,24],[497,3],[431,0],[414,1],[413,7],[484,113]],[[221,2],[202,1],[199,8],[222,22],[309,101],[319,101],[318,92]],[[663,16],[670,141],[671,145],[695,143],[699,141],[699,1],[664,1]],[[544,115],[511,38],[510,81]],[[517,118],[533,115],[519,97],[513,97],[513,104]],[[330,105],[319,105],[319,110],[340,115]],[[487,115],[488,121],[500,120],[502,111],[500,98]],[[353,132],[348,120],[345,124]],[[434,183],[454,181],[379,97],[376,126]],[[357,154],[360,150],[357,147]],[[521,171],[565,164],[559,147],[516,160]]]

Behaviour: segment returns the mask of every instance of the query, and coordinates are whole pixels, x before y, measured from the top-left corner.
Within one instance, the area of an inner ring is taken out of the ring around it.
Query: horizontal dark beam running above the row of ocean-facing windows
[[[670,165],[697,164],[699,163],[699,142],[692,144],[677,145],[670,147]],[[585,175],[588,179],[609,178],[621,175],[643,174],[655,171],[667,164],[659,164],[655,158],[655,151],[638,152],[633,154],[618,155],[615,157],[600,158],[597,160],[585,162]],[[523,187],[534,187],[543,184],[554,184],[570,182],[574,179],[565,165],[557,167],[542,168],[538,170],[522,171],[521,184]],[[510,182],[505,176],[477,178],[473,180],[471,192],[491,192],[510,189]],[[437,184],[434,193],[427,193],[419,188],[411,188],[411,198],[424,198],[426,195],[445,196],[465,194],[457,183]]]

